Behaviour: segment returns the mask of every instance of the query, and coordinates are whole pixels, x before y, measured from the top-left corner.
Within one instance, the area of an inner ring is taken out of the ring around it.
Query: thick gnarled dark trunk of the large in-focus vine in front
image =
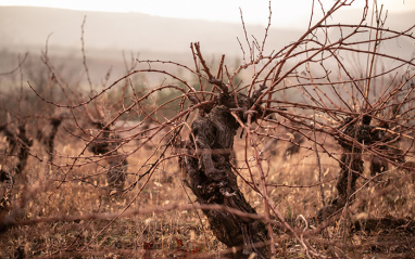
[[[186,144],[184,167],[187,184],[200,204],[225,205],[243,212],[256,213],[239,190],[230,165],[234,138],[239,124],[229,108],[249,108],[252,104],[251,99],[238,94],[238,105],[232,101],[221,102],[205,117],[193,121],[190,140]],[[236,257],[242,258],[255,252],[259,258],[268,258],[267,230],[262,221],[224,210],[203,212],[217,239],[228,247],[242,248]]]

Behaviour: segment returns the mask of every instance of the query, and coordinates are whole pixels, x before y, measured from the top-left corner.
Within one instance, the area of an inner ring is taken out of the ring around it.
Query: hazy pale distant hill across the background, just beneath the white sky
[[[45,50],[50,36],[50,55],[61,56],[62,63],[67,57],[79,59],[80,26],[85,15],[85,44],[89,64],[98,69],[93,72],[97,74],[96,78],[103,78],[109,67],[113,67],[117,75],[124,73],[122,51],[125,51],[127,57],[134,52],[136,55],[139,53],[141,60],[172,60],[191,65],[190,42],[201,42],[206,57],[215,55],[218,59],[221,54],[227,54],[228,62],[242,57],[237,37],[247,46],[241,24],[167,18],[140,13],[0,7],[0,54],[9,53],[9,60],[14,59],[10,53],[16,52],[29,51],[32,56],[38,56]],[[347,10],[340,21],[352,23],[351,21],[359,21],[360,16],[360,12]],[[389,14],[387,27],[402,30],[415,23],[414,17],[413,13]],[[332,20],[329,22],[337,23]],[[247,29],[250,42],[253,41],[251,35],[262,41],[264,26],[247,25]],[[272,27],[265,54],[295,41],[303,33],[293,28]],[[412,54],[415,46],[406,40],[390,42],[385,48],[392,48],[397,55],[403,56]],[[79,62],[76,64],[79,68]],[[3,60],[0,62],[0,69],[8,70],[12,67],[8,65]]]

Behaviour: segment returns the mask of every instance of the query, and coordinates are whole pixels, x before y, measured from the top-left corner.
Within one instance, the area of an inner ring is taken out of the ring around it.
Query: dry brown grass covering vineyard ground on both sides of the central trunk
[[[242,144],[238,141],[237,150],[241,150],[238,146]],[[284,150],[284,144],[280,145]],[[58,150],[65,151],[66,155],[76,155],[80,146],[62,144]],[[239,167],[243,165],[243,153],[237,154]],[[128,158],[130,165],[128,172],[142,173],[139,171],[143,163],[142,157],[144,157],[142,154],[137,153]],[[59,160],[63,163],[65,159]],[[301,152],[287,159],[282,159],[280,154],[264,154],[263,164],[268,172],[268,183],[292,185],[269,187],[271,198],[286,220],[294,226],[300,226],[300,215],[306,219],[314,218],[323,204],[319,187],[306,187],[318,182],[316,178],[318,168],[313,153]],[[104,166],[104,163],[101,165]],[[322,167],[324,179],[334,179],[324,184],[325,195],[329,197],[335,192],[338,165],[332,159],[322,157]],[[90,176],[99,171],[99,167],[92,164],[75,168],[71,171],[71,176]],[[63,172],[64,170],[47,170],[43,164],[30,158],[26,176],[17,180],[13,190],[12,205],[15,207],[11,211],[21,206],[18,220],[121,212],[126,207],[134,210],[194,202],[194,196],[183,184],[181,172],[175,159],[163,163],[150,180],[149,176],[144,177],[133,191],[121,196],[109,196],[108,190],[75,180],[58,187],[60,182],[53,179],[60,179]],[[404,173],[407,172],[395,170],[388,174],[388,179],[399,179]],[[248,170],[241,170],[241,174],[249,177]],[[102,173],[90,178],[90,182],[104,186],[104,176]],[[135,176],[129,174],[127,183],[130,184],[134,179]],[[361,179],[361,185],[363,182]],[[378,185],[370,183],[357,195],[369,195],[382,184]],[[243,181],[240,181],[240,185],[249,203],[259,213],[263,213],[262,197]],[[304,187],[293,187],[299,185]],[[407,181],[400,189],[368,200],[365,208],[362,207],[356,213],[351,215],[352,221],[342,218],[322,234],[312,236],[309,242],[322,254],[332,257],[414,256],[415,251],[411,245],[415,239],[414,221],[410,220],[415,218],[414,199],[414,182]],[[366,219],[365,222],[368,223],[359,224],[356,228],[357,224],[354,225],[353,222],[361,218]],[[392,223],[399,223],[395,219],[401,219],[401,225],[374,223],[373,219],[380,218],[389,218]],[[349,225],[345,232],[344,225]],[[277,230],[275,236],[278,243],[278,258],[306,257],[300,245],[287,233]],[[180,242],[183,244],[179,244]],[[0,247],[0,258],[22,258],[20,255],[26,255],[27,258],[164,258],[191,255],[219,257],[221,251],[226,249],[210,232],[202,212],[196,210],[137,215],[120,218],[113,222],[110,219],[56,220],[52,223],[18,225],[1,233]],[[144,249],[149,247],[151,249]]]

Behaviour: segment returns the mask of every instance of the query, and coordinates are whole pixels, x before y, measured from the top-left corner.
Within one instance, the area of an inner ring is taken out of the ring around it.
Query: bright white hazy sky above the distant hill
[[[320,0],[329,7],[335,0]],[[317,2],[317,1],[316,1]],[[364,0],[352,7],[361,8]],[[369,0],[373,2],[373,0]],[[377,0],[390,12],[414,11],[415,0]],[[51,7],[72,10],[140,12],[152,15],[240,22],[239,8],[246,23],[266,24],[268,0],[0,0],[0,5]],[[312,0],[273,0],[274,26],[294,25],[310,16]],[[407,21],[410,22],[410,21]]]

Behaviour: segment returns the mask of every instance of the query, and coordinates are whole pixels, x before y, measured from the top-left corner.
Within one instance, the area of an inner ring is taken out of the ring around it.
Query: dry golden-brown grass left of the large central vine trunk
[[[75,155],[77,152],[71,146],[65,150],[67,155]],[[143,160],[140,159],[140,154],[137,154],[129,157],[128,163],[130,165],[128,171],[136,173]],[[105,166],[105,163],[100,165]],[[102,168],[97,165],[84,166],[74,169],[71,176],[90,176],[95,172],[99,174],[100,170]],[[117,212],[127,205],[130,209],[137,209],[190,203],[187,196],[189,191],[184,189],[176,160],[166,161],[151,176],[148,183],[143,184],[149,178],[144,177],[137,187],[122,196],[110,196],[108,190],[80,181],[70,181],[58,187],[60,182],[53,179],[59,179],[60,173],[61,170],[48,171],[42,164],[36,163],[35,159],[29,160],[26,177],[20,179],[20,183],[13,189],[13,205],[17,206],[27,199],[22,207],[21,220]],[[130,174],[127,184],[133,183],[134,178]],[[91,178],[90,182],[105,186],[105,172],[102,171],[98,177]],[[29,197],[26,197],[27,193],[30,193]],[[140,195],[137,195],[138,193]],[[112,222],[101,234],[99,232],[111,222],[110,220],[16,226],[1,234],[0,247],[7,249],[0,249],[0,258],[13,258],[20,247],[24,248],[27,257],[61,257],[65,256],[65,252],[71,256],[71,251],[84,248],[85,255],[93,250],[98,254],[103,252],[99,257],[106,257],[103,255],[115,255],[116,250],[121,249],[126,250],[124,254],[129,254],[127,257],[136,255],[140,258],[146,243],[153,244],[152,248],[160,251],[160,255],[167,255],[177,248],[177,239],[183,241],[184,247],[189,250],[198,248],[206,252],[224,248],[209,232],[205,219],[200,220],[197,213],[201,215],[196,211],[173,210],[122,218]]]

